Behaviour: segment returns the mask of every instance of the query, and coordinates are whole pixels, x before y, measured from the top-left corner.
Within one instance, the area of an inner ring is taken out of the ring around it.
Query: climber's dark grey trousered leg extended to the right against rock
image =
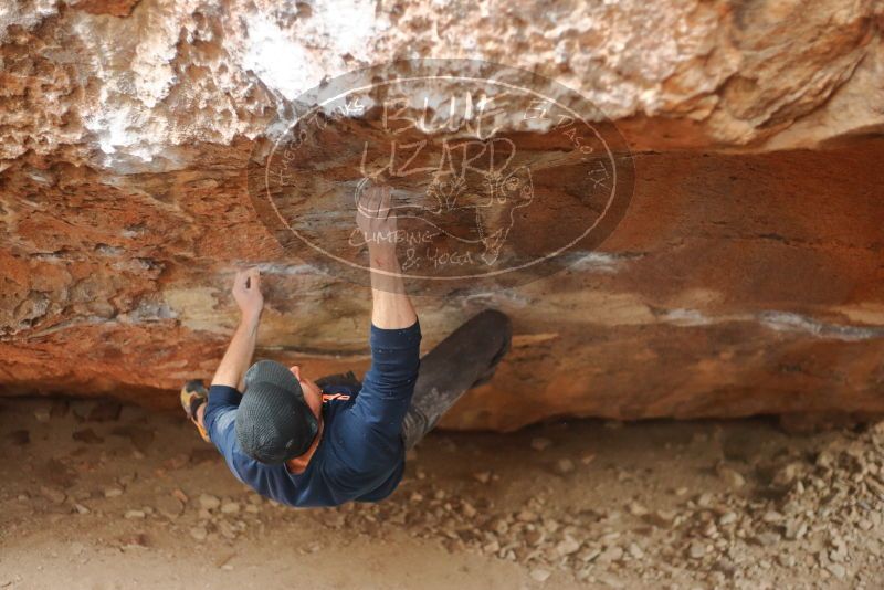
[[[471,388],[488,381],[509,350],[509,318],[482,312],[421,358],[414,397],[402,422],[406,449],[413,447]]]

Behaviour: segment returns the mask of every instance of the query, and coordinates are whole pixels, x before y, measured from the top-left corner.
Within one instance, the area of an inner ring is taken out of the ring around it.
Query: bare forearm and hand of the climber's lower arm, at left
[[[243,390],[243,378],[252,362],[257,339],[257,325],[264,298],[261,295],[261,275],[257,268],[240,271],[233,281],[233,298],[242,314],[227,352],[212,379],[213,386],[228,386]]]

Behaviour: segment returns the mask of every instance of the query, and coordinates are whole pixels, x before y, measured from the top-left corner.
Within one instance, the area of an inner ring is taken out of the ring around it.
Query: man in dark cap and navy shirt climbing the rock
[[[361,198],[366,236],[396,233],[388,188]],[[298,507],[378,502],[402,478],[406,450],[470,388],[488,380],[509,348],[509,319],[474,316],[420,358],[421,329],[400,276],[396,244],[367,240],[371,265],[371,367],[312,381],[272,360],[250,367],[264,305],[254,268],[239,272],[242,318],[207,392],[199,381],[181,403],[228,467],[259,494]]]

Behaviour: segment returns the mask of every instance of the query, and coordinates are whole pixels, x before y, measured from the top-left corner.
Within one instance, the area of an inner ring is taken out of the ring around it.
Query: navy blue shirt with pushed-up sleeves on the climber
[[[420,324],[404,329],[371,326],[371,368],[361,389],[329,387],[323,393],[324,431],[306,470],[261,463],[236,440],[241,394],[212,386],[203,422],[228,467],[262,496],[298,507],[378,502],[389,496],[404,471],[402,420],[420,365]],[[248,392],[246,392],[248,394]]]

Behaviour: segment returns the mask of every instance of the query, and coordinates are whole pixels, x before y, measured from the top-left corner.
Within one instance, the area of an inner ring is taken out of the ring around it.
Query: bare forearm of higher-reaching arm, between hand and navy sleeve
[[[375,244],[368,249],[371,262],[371,323],[383,329],[407,328],[418,320],[406,293],[396,246]]]

